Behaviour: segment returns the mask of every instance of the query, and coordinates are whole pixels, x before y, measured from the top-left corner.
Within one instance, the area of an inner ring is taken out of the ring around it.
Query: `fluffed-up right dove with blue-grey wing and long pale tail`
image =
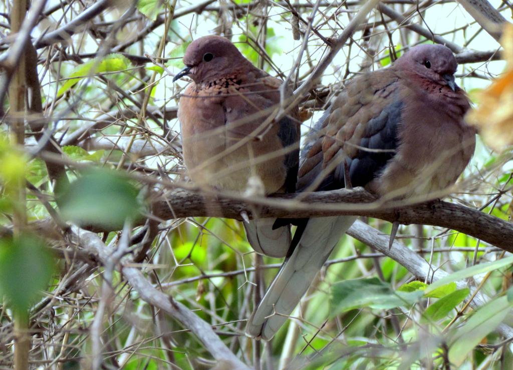
[[[470,106],[455,82],[457,66],[447,47],[423,44],[389,68],[349,81],[306,137],[297,191],[350,184],[421,201],[454,184],[476,143],[463,120]],[[285,262],[249,318],[248,336],[274,336],[355,219],[297,222]]]

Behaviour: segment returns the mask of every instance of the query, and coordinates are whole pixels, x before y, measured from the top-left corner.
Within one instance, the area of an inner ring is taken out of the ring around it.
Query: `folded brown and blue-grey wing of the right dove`
[[[317,190],[344,188],[345,166],[355,187],[379,175],[399,145],[398,87],[398,78],[387,70],[351,81],[307,136],[298,190],[313,183]]]

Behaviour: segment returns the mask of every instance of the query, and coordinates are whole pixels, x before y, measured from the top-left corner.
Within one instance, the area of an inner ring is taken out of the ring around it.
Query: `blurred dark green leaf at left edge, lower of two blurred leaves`
[[[47,287],[55,262],[33,235],[0,239],[0,294],[15,310],[27,310]]]

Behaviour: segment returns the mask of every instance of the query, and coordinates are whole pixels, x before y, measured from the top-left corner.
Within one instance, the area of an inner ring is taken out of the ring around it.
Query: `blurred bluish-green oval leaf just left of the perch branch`
[[[125,176],[109,170],[92,170],[55,192],[62,216],[80,225],[121,229],[127,218],[139,216],[137,189]]]

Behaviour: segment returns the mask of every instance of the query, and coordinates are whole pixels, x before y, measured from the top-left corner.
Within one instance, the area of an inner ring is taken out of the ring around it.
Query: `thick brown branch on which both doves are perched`
[[[260,217],[303,218],[332,215],[357,215],[398,221],[402,224],[426,224],[457,230],[481,239],[508,252],[513,252],[513,224],[463,205],[446,201],[391,207],[382,204],[362,188],[301,194],[301,201],[294,195],[282,199],[265,198],[245,200],[218,196],[206,201],[198,193],[173,193],[166,200],[153,205],[154,215],[160,219],[190,216],[226,217],[241,220],[241,213],[254,214],[258,208]],[[398,203],[396,203],[398,204]]]

